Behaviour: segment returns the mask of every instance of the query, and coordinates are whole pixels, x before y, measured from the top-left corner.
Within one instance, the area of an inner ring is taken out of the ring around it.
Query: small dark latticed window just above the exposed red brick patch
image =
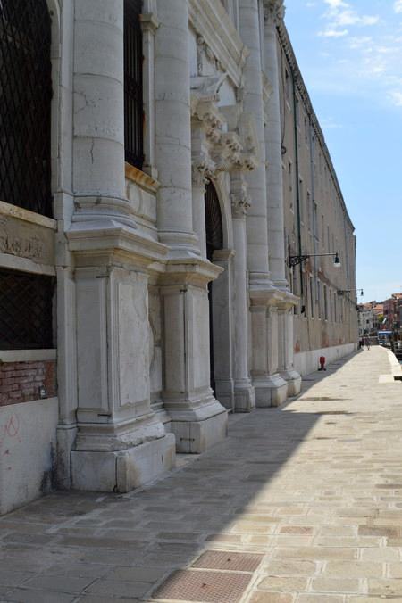
[[[0,269],[0,350],[53,347],[54,277]]]

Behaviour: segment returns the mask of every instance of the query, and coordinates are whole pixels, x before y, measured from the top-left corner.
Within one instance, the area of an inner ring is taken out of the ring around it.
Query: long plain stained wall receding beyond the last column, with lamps
[[[357,341],[356,237],[286,29],[278,29],[287,277],[299,302],[295,366],[302,373]],[[334,266],[338,254],[340,267]],[[309,256],[289,267],[291,256]]]

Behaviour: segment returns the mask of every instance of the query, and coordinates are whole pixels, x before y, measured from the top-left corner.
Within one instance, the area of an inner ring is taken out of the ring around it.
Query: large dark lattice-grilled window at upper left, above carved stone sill
[[[46,0],[0,0],[0,201],[51,216],[50,16]]]

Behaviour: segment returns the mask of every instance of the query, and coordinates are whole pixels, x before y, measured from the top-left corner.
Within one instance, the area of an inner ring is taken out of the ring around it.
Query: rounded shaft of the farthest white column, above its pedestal
[[[281,153],[280,74],[276,24],[281,19],[283,0],[269,0],[264,6],[264,69],[272,85],[265,124],[266,189],[270,269],[274,285],[288,287],[285,276],[285,227]]]

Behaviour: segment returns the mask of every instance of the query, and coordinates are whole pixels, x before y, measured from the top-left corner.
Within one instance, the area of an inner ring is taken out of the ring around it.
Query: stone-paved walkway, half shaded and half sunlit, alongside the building
[[[231,417],[225,442],[154,485],[58,492],[4,516],[0,600],[402,601],[390,373],[388,351],[358,352],[286,406]]]

